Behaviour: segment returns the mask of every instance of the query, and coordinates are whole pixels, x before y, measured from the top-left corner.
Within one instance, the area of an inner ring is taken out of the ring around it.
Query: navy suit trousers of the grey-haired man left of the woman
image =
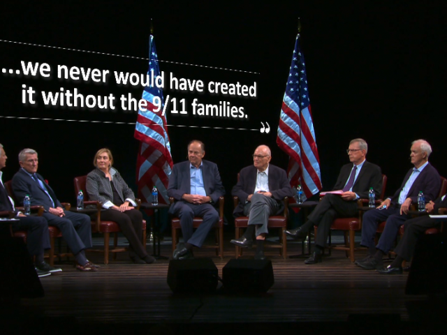
[[[59,228],[67,242],[68,248],[77,255],[85,248],[91,248],[91,220],[86,214],[64,211],[65,216],[44,213],[48,225]]]

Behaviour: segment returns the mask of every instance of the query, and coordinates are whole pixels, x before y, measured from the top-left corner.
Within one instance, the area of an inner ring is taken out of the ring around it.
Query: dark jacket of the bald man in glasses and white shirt
[[[256,188],[256,177],[258,169],[254,165],[247,166],[243,168],[239,173],[239,181],[233,187],[231,194],[239,198],[239,204],[233,211],[233,215],[243,216],[244,215],[244,205],[247,202],[247,198],[250,194],[254,193]],[[275,165],[268,165],[268,188],[270,193],[272,193],[272,198],[279,202],[279,209],[277,214],[284,211],[284,198],[293,197],[293,190],[288,182],[286,171],[278,168]]]

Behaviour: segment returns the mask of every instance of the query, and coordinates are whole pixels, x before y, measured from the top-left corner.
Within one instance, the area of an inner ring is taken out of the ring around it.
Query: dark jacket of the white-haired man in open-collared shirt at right
[[[399,202],[399,195],[402,188],[404,188],[406,181],[411,176],[413,172],[413,168],[406,172],[406,176],[400,188],[397,188],[397,191],[394,193],[393,198],[391,198],[391,204],[397,204]],[[430,200],[434,200],[437,198],[439,194],[439,188],[441,188],[441,176],[433,165],[430,163],[425,166],[424,170],[419,173],[418,177],[411,185],[411,188],[406,195],[406,198],[411,198],[411,202],[418,202],[418,193],[422,191],[425,195],[425,202],[429,202]]]

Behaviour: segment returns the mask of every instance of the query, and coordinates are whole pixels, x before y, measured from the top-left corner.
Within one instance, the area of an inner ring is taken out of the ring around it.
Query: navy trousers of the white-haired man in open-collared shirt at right
[[[363,214],[362,241],[360,245],[366,246],[367,248],[374,248],[374,237],[376,236],[377,227],[379,223],[386,221],[385,229],[381,234],[376,248],[383,251],[383,253],[388,253],[393,247],[400,226],[410,217],[408,214],[400,215],[400,206],[367,211]]]

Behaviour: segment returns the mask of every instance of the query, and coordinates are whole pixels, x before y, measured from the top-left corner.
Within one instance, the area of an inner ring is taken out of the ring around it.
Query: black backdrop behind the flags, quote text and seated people
[[[227,193],[237,172],[252,163],[259,144],[272,149],[272,163],[286,168],[288,158],[277,147],[282,97],[297,33],[302,23],[309,95],[321,160],[323,189],[332,188],[342,164],[348,162],[349,140],[362,137],[369,144],[367,159],[388,175],[388,191],[400,186],[411,168],[411,142],[424,138],[432,144],[431,163],[447,174],[445,144],[446,5],[445,1],[275,1],[268,6],[240,1],[175,4],[165,1],[83,3],[3,3],[0,39],[22,43],[89,50],[131,57],[148,57],[149,19],[159,60],[228,68],[243,73],[160,62],[176,77],[251,85],[258,98],[228,98],[210,94],[164,94],[193,98],[200,103],[229,101],[244,107],[249,119],[217,119],[168,114],[168,124],[260,128],[256,131],[169,127],[173,159],[186,158],[192,139],[206,144],[205,159],[219,165]],[[147,72],[147,60],[90,54],[47,47],[0,42],[0,68],[20,68],[20,61],[45,62],[112,71]],[[54,73],[54,72],[53,72]],[[167,81],[167,78],[166,78]],[[22,84],[36,91],[77,87],[82,94],[119,96],[142,88],[0,75],[0,115],[52,119],[135,122],[135,112],[70,110],[22,105]],[[17,154],[25,147],[39,154],[39,172],[62,201],[74,201],[73,177],[87,174],[101,147],[112,150],[115,167],[135,189],[138,141],[134,126],[67,121],[0,118],[0,143],[8,154],[3,180],[19,168]],[[229,198],[227,205],[230,207]]]

